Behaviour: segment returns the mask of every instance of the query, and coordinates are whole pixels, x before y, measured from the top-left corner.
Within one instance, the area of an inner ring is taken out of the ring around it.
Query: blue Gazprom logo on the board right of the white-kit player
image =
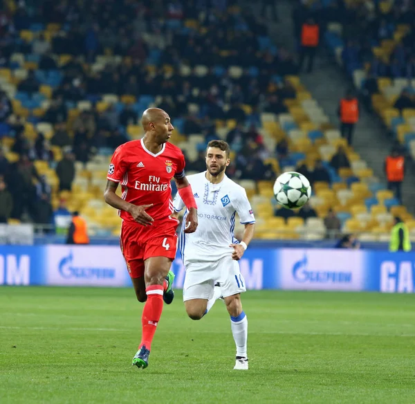
[[[292,272],[293,278],[300,283],[349,284],[353,280],[352,273],[348,271],[309,270],[306,254],[294,264]]]

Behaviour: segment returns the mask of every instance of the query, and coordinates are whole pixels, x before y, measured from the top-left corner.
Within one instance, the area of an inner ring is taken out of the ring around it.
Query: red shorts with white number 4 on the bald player
[[[178,221],[168,219],[151,226],[122,221],[120,247],[132,278],[144,275],[144,261],[150,257],[176,258]]]

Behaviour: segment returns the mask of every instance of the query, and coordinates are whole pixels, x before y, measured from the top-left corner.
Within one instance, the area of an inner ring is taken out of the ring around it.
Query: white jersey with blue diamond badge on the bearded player
[[[231,255],[232,248],[229,245],[239,243],[233,233],[236,214],[239,215],[241,224],[255,223],[246,191],[228,176],[224,176],[219,184],[210,183],[206,172],[187,176],[187,180],[192,185],[199,226],[191,234],[186,234],[182,226],[180,250],[183,263],[216,261]],[[173,207],[176,212],[185,207],[178,193]],[[187,210],[183,223],[186,216]]]

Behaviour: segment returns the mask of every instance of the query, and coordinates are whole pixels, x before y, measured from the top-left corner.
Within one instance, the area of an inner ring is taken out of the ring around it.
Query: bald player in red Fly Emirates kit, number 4
[[[142,338],[133,365],[148,366],[151,341],[163,311],[163,299],[172,302],[170,271],[176,257],[178,220],[173,212],[172,178],[190,210],[185,232],[197,228],[196,202],[185,177],[181,149],[168,143],[174,127],[163,109],[142,114],[145,135],[116,149],[109,165],[105,201],[119,210],[122,219],[120,246],[142,311]],[[116,194],[118,184],[122,196]]]

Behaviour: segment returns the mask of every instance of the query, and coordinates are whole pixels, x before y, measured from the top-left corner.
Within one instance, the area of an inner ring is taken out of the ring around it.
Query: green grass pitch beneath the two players
[[[415,295],[251,291],[249,371],[221,301],[165,306],[145,370],[142,304],[110,288],[0,288],[0,403],[414,403]]]

